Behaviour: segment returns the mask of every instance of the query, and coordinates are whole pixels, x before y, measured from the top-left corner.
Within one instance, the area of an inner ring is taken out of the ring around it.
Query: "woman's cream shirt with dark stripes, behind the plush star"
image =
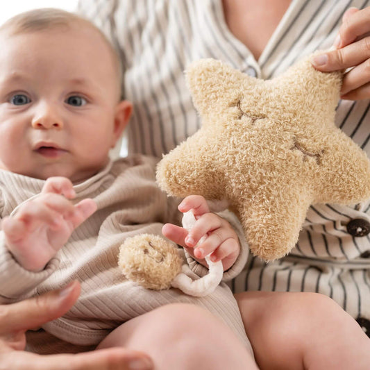
[[[128,152],[161,156],[201,125],[183,71],[215,58],[269,79],[298,58],[329,48],[351,6],[369,0],[293,0],[258,60],[230,33],[221,0],[80,0],[79,12],[115,44],[124,70],[123,92],[134,103]],[[336,124],[370,153],[370,103],[339,101]],[[348,222],[370,222],[370,202],[353,207],[314,205],[296,248],[265,264],[250,258],[235,291],[321,292],[358,319],[370,335],[370,237],[348,233]]]

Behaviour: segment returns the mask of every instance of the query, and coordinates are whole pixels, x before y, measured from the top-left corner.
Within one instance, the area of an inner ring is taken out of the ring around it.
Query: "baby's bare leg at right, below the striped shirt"
[[[235,298],[260,369],[369,369],[370,339],[333,299],[301,292]]]

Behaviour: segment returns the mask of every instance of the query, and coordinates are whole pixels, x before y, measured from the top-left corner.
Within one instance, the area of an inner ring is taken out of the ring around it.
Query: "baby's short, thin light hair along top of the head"
[[[116,49],[112,46],[106,35],[92,22],[80,17],[72,12],[67,12],[61,9],[42,8],[22,12],[8,19],[0,26],[0,33],[8,33],[8,35],[21,35],[22,33],[33,33],[47,31],[57,28],[69,28],[72,26],[81,25],[94,29],[107,44],[113,58],[115,68],[117,69],[117,77],[119,85],[121,83],[121,66],[119,55]]]

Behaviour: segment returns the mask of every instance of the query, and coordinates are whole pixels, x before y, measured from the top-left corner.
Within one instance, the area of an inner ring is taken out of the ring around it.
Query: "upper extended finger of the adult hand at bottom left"
[[[0,336],[28,330],[57,319],[76,302],[80,285],[74,281],[63,289],[26,299],[18,303],[0,305]]]

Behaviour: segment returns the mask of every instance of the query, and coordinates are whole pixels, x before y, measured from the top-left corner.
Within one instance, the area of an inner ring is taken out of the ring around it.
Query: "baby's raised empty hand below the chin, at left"
[[[73,230],[95,212],[92,199],[73,205],[68,199],[75,196],[68,178],[51,177],[40,195],[22,204],[15,215],[3,219],[6,246],[24,269],[42,270]]]

